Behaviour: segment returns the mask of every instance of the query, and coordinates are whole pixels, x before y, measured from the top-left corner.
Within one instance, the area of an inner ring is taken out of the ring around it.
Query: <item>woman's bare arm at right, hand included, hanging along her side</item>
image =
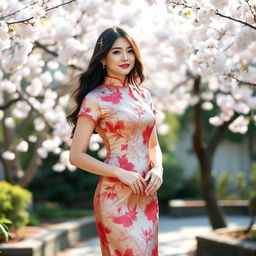
[[[147,173],[145,180],[150,178],[145,193],[152,195],[155,193],[163,183],[163,166],[162,166],[162,151],[157,139],[156,126],[154,127],[149,139],[149,156],[153,163],[153,168]]]

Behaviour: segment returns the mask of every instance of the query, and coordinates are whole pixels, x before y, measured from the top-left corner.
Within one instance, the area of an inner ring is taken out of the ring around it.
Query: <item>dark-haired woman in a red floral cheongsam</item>
[[[158,200],[162,152],[139,50],[120,27],[99,36],[88,69],[72,94],[70,163],[100,175],[94,214],[104,256],[158,255]],[[102,138],[104,162],[86,150],[92,133]]]

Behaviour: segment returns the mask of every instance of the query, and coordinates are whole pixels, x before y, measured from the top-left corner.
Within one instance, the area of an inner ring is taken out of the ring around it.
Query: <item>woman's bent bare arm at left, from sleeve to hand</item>
[[[108,177],[116,177],[128,185],[135,194],[142,194],[144,192],[146,182],[141,175],[136,172],[126,171],[118,166],[104,163],[85,153],[87,151],[94,127],[95,122],[89,117],[78,117],[70,147],[70,163],[90,173]]]

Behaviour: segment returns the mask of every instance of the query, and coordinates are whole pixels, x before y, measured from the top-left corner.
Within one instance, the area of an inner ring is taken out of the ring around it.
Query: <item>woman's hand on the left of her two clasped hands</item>
[[[117,171],[117,178],[129,186],[134,194],[144,195],[147,182],[139,173],[122,169]]]

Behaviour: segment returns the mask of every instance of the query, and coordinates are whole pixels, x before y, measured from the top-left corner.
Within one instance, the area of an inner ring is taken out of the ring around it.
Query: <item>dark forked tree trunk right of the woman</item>
[[[194,94],[200,96],[201,77],[194,78]],[[212,177],[212,160],[215,149],[220,140],[220,136],[226,128],[226,125],[221,128],[216,128],[210,141],[207,144],[202,142],[202,120],[201,120],[201,101],[194,108],[194,124],[195,133],[193,137],[193,146],[196,156],[199,161],[200,175],[202,181],[203,196],[206,202],[206,210],[213,229],[226,227],[226,221],[222,209],[218,205],[216,197],[216,189],[214,179]]]

